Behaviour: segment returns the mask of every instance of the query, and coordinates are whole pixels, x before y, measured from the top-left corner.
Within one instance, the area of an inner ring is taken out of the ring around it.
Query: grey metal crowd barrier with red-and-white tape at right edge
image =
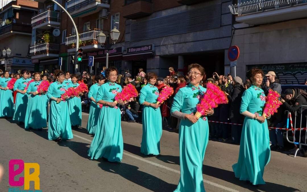
[[[299,110],[301,111],[301,115],[298,116],[299,117],[299,127],[296,127],[296,121],[297,121],[297,111],[295,112],[293,119],[294,121],[292,121],[292,115],[291,113],[288,111],[288,119],[287,119],[287,131],[286,131],[286,139],[289,143],[293,143],[297,149],[294,153],[294,157],[296,157],[297,152],[299,150],[302,149],[302,146],[307,146],[307,118],[306,118],[306,113],[307,113],[307,105],[301,105],[301,107],[299,108]],[[305,124],[303,124],[302,126],[302,119],[306,119]],[[293,124],[294,122],[294,124]],[[291,126],[291,128],[289,128],[289,124]],[[305,126],[304,126],[305,125]],[[292,134],[289,134],[289,131],[292,132]],[[298,133],[297,133],[298,132]],[[299,138],[298,138],[299,135]],[[291,139],[289,136],[293,136],[293,139]]]

